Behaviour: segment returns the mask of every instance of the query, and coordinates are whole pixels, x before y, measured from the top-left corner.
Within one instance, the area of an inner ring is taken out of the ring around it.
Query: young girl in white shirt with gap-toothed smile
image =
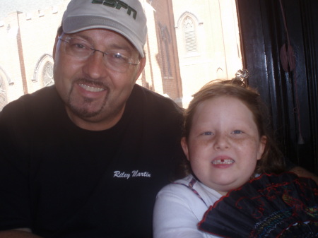
[[[239,79],[213,81],[194,95],[181,141],[188,175],[158,193],[154,238],[215,237],[197,227],[213,203],[259,174],[283,172],[265,108]]]

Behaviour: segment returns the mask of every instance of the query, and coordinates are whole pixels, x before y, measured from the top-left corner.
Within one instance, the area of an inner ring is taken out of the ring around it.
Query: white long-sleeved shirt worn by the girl
[[[153,213],[154,238],[216,237],[198,230],[197,224],[202,220],[209,206],[218,201],[222,195],[197,180],[193,185],[199,196],[196,195],[187,187],[192,179],[194,177],[189,175],[168,184],[159,191]]]

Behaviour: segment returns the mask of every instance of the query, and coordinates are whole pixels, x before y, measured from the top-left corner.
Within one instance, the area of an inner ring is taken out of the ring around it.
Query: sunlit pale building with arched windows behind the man
[[[70,0],[33,1],[0,14],[0,110],[54,83],[52,49]],[[148,37],[140,85],[187,107],[202,85],[242,68],[235,0],[141,1]]]

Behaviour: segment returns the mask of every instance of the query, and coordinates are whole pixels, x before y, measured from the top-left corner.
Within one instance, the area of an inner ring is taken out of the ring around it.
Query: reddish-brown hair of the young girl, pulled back
[[[269,128],[269,113],[264,102],[261,100],[257,90],[249,88],[246,83],[238,78],[232,80],[216,80],[207,83],[199,92],[193,95],[193,99],[189,107],[184,111],[184,131],[183,136],[189,138],[189,133],[192,127],[192,120],[196,113],[197,106],[213,97],[229,95],[243,102],[252,112],[255,124],[259,131],[259,136],[266,136],[266,146],[261,159],[257,161],[257,167],[254,174],[261,173],[280,173],[284,171],[285,160],[281,151],[278,149],[271,129]],[[184,165],[186,174],[191,172],[189,162]]]

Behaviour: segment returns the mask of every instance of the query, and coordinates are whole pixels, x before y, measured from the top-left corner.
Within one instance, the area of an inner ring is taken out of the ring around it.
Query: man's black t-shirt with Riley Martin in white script
[[[151,237],[155,195],[183,153],[181,109],[135,85],[111,129],[74,125],[54,86],[0,112],[0,230]]]

